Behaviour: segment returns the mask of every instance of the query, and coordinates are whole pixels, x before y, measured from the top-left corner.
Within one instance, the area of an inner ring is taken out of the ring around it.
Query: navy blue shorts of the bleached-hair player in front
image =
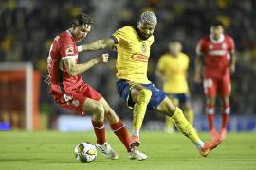
[[[165,97],[167,97],[167,94],[164,93],[163,91],[157,89],[155,87],[154,84],[150,83],[150,84],[140,84],[142,86],[144,86],[145,88],[151,90],[152,92],[152,96],[150,99],[150,102],[148,104],[148,109],[150,110],[155,110],[157,108],[157,106],[165,99]],[[130,99],[130,89],[131,89],[131,85],[129,85],[127,80],[119,80],[116,83],[116,89],[117,92],[119,93],[119,96],[122,100],[127,102],[127,105],[129,107],[134,107],[134,104],[132,102],[132,100]]]

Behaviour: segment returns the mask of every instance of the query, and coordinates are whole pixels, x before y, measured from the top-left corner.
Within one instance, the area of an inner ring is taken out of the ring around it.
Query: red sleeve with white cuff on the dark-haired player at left
[[[70,37],[61,37],[59,44],[62,59],[77,58],[76,44]]]

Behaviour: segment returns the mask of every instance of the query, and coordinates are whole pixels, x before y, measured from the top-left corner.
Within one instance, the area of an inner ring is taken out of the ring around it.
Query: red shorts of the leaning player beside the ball
[[[81,86],[73,89],[72,91],[66,91],[65,93],[52,94],[54,101],[61,107],[67,110],[75,110],[79,114],[84,115],[82,106],[86,98],[90,98],[99,101],[102,96],[94,88],[87,83],[82,83]]]

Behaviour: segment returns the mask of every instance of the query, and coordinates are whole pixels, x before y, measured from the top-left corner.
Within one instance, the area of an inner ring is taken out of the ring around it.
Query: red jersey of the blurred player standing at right
[[[196,52],[205,56],[205,76],[223,76],[229,74],[229,53],[234,50],[234,41],[228,35],[222,35],[218,41],[211,35],[202,38]]]

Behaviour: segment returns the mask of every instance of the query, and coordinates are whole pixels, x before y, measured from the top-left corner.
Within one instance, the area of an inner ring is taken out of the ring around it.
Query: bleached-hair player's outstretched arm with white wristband
[[[95,51],[99,49],[104,49],[106,47],[112,47],[115,44],[115,41],[112,38],[101,39],[95,42],[87,43],[78,46],[79,52],[82,51]]]

